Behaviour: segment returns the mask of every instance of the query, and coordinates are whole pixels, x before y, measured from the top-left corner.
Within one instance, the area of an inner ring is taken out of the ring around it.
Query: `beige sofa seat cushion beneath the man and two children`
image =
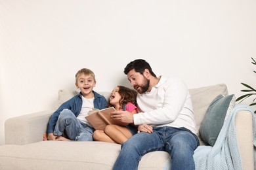
[[[0,169],[112,169],[120,144],[104,142],[41,141],[0,147]],[[170,161],[167,152],[150,152],[139,169],[163,169]]]

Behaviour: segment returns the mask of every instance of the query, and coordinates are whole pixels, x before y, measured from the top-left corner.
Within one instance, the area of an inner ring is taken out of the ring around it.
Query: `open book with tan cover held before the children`
[[[104,130],[105,127],[109,124],[115,124],[119,126],[127,126],[128,124],[125,124],[123,122],[120,122],[118,120],[113,120],[110,116],[111,112],[116,111],[114,107],[108,107],[106,109],[98,110],[94,109],[91,110],[85,118],[88,120],[88,122],[95,128],[95,130]]]

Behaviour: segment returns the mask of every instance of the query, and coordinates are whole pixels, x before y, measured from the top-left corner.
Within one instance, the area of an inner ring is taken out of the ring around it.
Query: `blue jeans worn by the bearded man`
[[[198,137],[184,127],[154,127],[153,133],[137,133],[121,145],[113,169],[138,169],[142,156],[157,150],[169,152],[171,170],[195,169],[193,155],[198,145]]]

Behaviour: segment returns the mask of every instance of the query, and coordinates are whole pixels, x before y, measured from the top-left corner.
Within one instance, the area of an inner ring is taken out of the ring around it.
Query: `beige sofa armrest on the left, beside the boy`
[[[5,144],[29,144],[42,141],[54,110],[45,110],[9,118],[5,122]]]

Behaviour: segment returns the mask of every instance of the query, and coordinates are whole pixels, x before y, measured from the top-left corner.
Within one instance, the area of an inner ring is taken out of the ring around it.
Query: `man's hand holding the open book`
[[[128,111],[115,111],[111,113],[111,118],[127,124],[133,124],[133,113]]]

